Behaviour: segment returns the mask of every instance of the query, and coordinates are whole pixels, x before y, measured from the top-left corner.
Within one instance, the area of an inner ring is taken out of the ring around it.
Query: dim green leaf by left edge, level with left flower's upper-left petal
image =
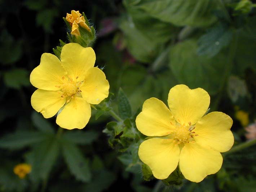
[[[6,86],[14,89],[20,89],[22,86],[29,86],[28,71],[22,68],[7,71],[4,73],[4,83]]]

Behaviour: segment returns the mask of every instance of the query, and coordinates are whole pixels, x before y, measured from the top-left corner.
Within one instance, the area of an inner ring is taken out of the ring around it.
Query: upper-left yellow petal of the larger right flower
[[[156,98],[147,99],[136,118],[138,130],[147,136],[163,136],[172,132],[175,119],[166,105]]]

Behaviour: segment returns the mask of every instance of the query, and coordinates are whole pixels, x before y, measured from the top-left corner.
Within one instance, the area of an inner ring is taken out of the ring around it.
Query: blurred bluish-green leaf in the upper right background
[[[198,55],[215,56],[222,48],[229,45],[232,35],[232,30],[228,26],[217,24],[199,38]]]

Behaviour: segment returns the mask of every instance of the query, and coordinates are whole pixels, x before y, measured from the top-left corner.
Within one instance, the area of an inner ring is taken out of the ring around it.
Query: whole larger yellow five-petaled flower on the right
[[[147,136],[164,136],[145,140],[138,151],[155,178],[166,179],[178,164],[184,177],[193,182],[219,171],[220,152],[228,151],[234,143],[230,131],[233,121],[222,112],[203,116],[209,104],[210,96],[204,89],[186,85],[169,91],[169,109],[156,98],[144,102],[136,118],[138,130]]]

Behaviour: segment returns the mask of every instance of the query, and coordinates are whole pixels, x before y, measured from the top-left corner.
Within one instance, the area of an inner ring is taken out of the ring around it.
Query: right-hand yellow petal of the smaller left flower
[[[109,95],[109,81],[98,67],[90,68],[80,86],[82,97],[91,104],[99,104]]]

